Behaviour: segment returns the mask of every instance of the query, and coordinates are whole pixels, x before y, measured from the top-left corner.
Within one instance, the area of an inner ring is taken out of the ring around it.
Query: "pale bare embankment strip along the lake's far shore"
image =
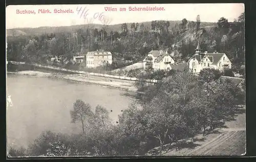
[[[80,83],[89,83],[96,84],[101,86],[106,86],[110,88],[118,88],[127,91],[137,92],[137,88],[131,83],[117,82],[112,80],[106,80],[104,78],[91,78],[88,76],[84,76],[82,74],[61,74],[61,73],[45,73],[39,71],[20,71],[20,72],[7,72],[8,74],[16,74],[16,75],[29,75],[35,77],[47,77],[47,78],[57,78],[57,79],[66,79],[69,81],[75,81]]]

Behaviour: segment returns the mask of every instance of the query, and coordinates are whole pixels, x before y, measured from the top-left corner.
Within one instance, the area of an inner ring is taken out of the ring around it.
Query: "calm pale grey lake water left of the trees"
[[[97,105],[105,107],[115,123],[132,100],[125,93],[99,85],[8,74],[7,96],[11,96],[12,106],[7,109],[7,144],[28,146],[46,130],[81,132],[80,125],[71,123],[70,118],[76,99],[89,103],[93,110]]]

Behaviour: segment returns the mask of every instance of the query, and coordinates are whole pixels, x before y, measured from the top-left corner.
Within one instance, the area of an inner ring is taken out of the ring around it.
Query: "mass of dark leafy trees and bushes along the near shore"
[[[151,85],[113,123],[108,111],[95,111],[81,100],[71,109],[71,122],[83,122],[80,134],[51,131],[28,148],[8,148],[9,156],[132,156],[162,155],[164,147],[182,138],[193,144],[197,134],[211,133],[241,113],[244,91],[233,82],[219,82],[219,73],[203,70],[199,76],[176,72]],[[189,143],[185,144],[189,145]],[[159,147],[158,152],[151,150]],[[172,148],[170,148],[172,149]]]

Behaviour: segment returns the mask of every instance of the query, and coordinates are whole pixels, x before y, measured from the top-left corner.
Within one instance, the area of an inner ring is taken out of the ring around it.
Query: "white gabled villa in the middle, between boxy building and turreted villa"
[[[143,68],[144,70],[147,68],[153,68],[154,70],[170,70],[170,64],[173,63],[175,63],[175,61],[167,51],[152,50],[143,60]]]

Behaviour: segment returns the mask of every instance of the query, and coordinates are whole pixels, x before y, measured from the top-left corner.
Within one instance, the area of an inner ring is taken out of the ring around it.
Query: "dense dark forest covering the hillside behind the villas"
[[[233,64],[245,61],[244,13],[233,22],[221,17],[217,24],[200,22],[198,16],[197,21],[10,29],[7,34],[7,59],[16,61],[47,63],[57,56],[65,65],[81,51],[98,49],[111,51],[114,64],[142,61],[152,49],[187,61],[198,41],[203,51],[226,53]]]

